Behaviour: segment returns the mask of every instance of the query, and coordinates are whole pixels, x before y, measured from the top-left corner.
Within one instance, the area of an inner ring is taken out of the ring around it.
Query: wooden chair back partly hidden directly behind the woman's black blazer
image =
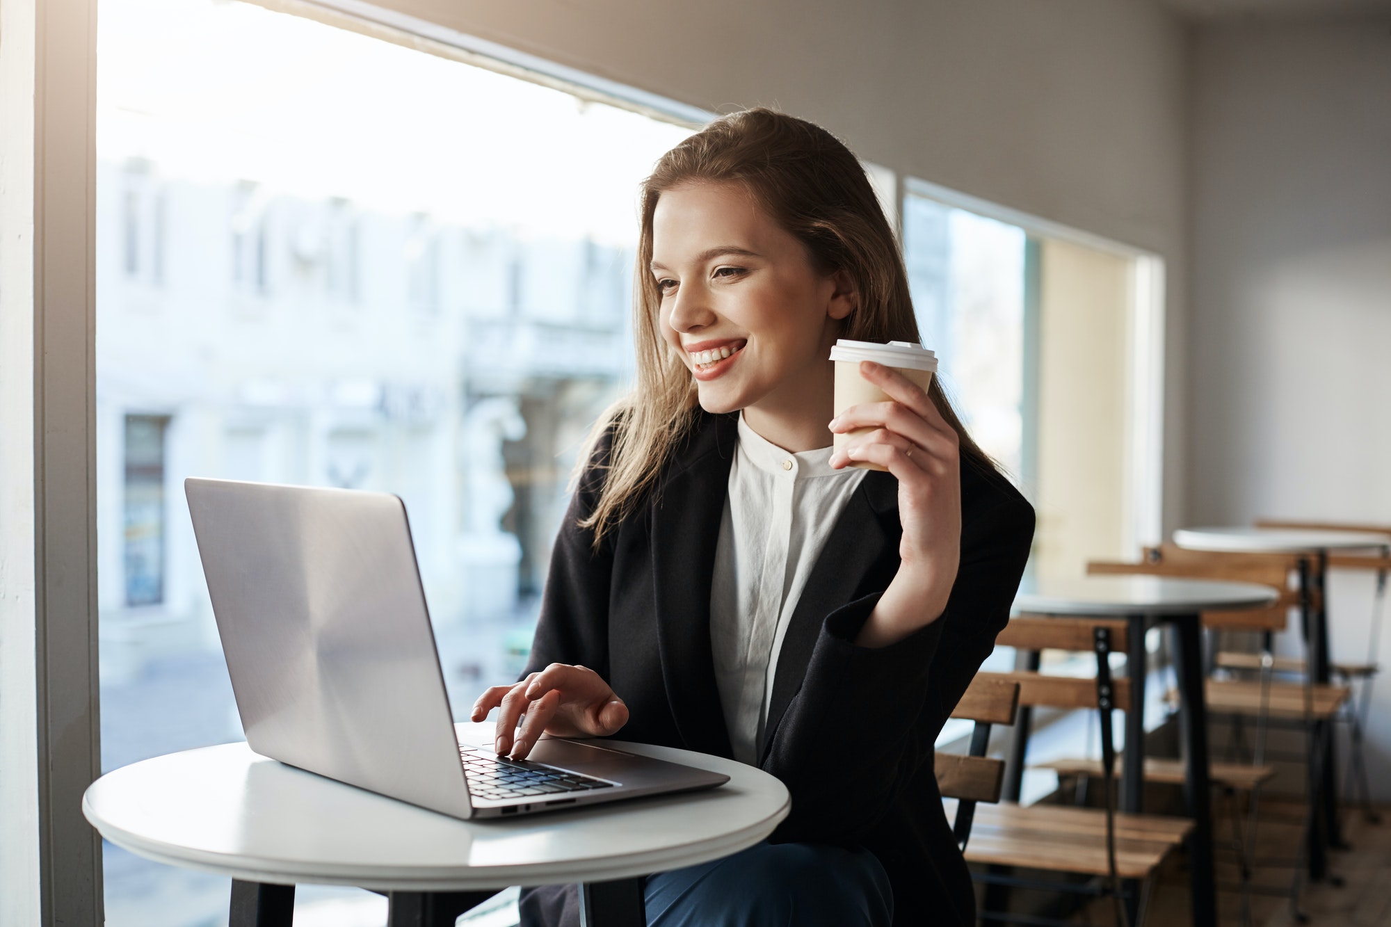
[[[951,711],[953,718],[975,721],[971,746],[965,756],[938,753],[935,756],[938,791],[944,799],[957,800],[951,832],[965,850],[971,839],[971,823],[978,802],[996,803],[1004,786],[1004,760],[985,756],[990,746],[990,727],[1014,724],[1020,707],[1020,685],[1007,679],[978,675],[971,681],[961,702]]]

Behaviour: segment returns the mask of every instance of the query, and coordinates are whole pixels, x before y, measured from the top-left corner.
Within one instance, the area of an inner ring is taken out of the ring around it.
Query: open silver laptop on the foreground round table
[[[184,490],[256,753],[463,818],[729,781],[602,742],[542,738],[523,761],[460,743],[398,497],[204,479]]]

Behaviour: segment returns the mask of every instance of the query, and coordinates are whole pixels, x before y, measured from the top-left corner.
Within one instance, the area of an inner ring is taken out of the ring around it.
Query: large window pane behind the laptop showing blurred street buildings
[[[225,0],[100,0],[99,68],[103,767],[241,736],[195,475],[402,496],[466,710],[526,660],[629,376],[637,184],[687,129]],[[113,926],[227,914],[111,848],[106,892]],[[360,895],[296,924],[383,923]]]

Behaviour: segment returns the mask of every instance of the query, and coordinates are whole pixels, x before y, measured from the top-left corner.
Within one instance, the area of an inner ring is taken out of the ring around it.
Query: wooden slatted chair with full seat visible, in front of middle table
[[[1021,707],[1096,710],[1102,725],[1102,777],[1104,807],[1064,807],[1015,803],[979,807],[965,859],[988,867],[1013,866],[1049,873],[1091,877],[1082,885],[1059,882],[1028,884],[1025,880],[978,871],[988,885],[1032,887],[1084,895],[1109,895],[1117,905],[1117,923],[1138,921],[1153,885],[1153,876],[1168,855],[1187,838],[1192,823],[1156,814],[1116,811],[1111,711],[1129,704],[1129,683],[1110,672],[1111,650],[1125,649],[1125,622],[1086,618],[1045,618],[1010,621],[996,639],[1006,646],[1028,649],[1089,650],[1096,656],[1095,678],[1050,676],[1015,671],[978,674],[978,679],[999,679],[1020,686]],[[1138,882],[1139,892],[1125,891],[1121,881]],[[1123,906],[1128,896],[1129,910]],[[982,920],[990,914],[982,912]],[[999,917],[997,917],[999,919]],[[1003,919],[1017,920],[1014,914]],[[1029,923],[1034,923],[1032,920]]]

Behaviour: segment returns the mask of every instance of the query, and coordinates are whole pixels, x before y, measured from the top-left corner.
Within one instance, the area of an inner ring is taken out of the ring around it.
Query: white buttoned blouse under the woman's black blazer
[[[739,416],[739,448],[715,547],[709,639],[734,759],[758,763],[787,622],[830,529],[865,472],[830,448],[789,454]]]

